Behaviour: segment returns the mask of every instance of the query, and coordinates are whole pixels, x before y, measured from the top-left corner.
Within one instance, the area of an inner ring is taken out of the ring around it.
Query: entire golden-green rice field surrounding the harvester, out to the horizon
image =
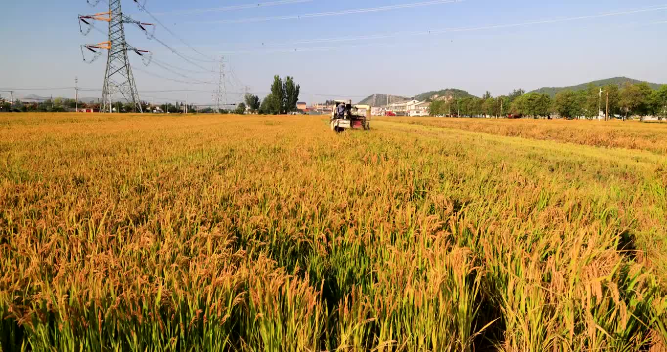
[[[0,115],[1,351],[666,350],[667,127],[380,120]]]

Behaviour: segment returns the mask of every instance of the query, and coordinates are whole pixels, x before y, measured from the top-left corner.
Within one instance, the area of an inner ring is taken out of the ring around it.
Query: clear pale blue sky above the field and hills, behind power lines
[[[273,1],[276,0],[259,0],[261,3]],[[247,85],[251,91],[263,95],[276,74],[295,77],[303,92],[301,100],[308,102],[338,97],[358,99],[356,96],[371,93],[409,96],[446,87],[465,89],[476,95],[489,90],[499,95],[514,88],[530,91],[621,75],[667,83],[667,46],[664,45],[667,9],[517,27],[431,35],[401,34],[667,7],[666,0],[466,0],[350,15],[225,23],[422,1],[426,0],[311,0],[199,13],[188,12],[252,5],[257,4],[257,0],[148,0],[145,6],[199,51],[211,57],[225,53],[226,65],[233,71],[233,75],[227,73],[229,91],[239,91],[242,85]],[[92,8],[85,0],[4,3],[0,21],[0,47],[3,48],[0,88],[71,87],[77,76],[79,86],[99,89],[105,57],[90,65],[83,63],[79,45],[98,43],[105,38],[97,31],[83,37],[79,33],[77,15],[105,11],[105,5],[101,1]],[[131,0],[123,0],[123,11],[135,19],[153,22]],[[97,27],[105,29],[102,23]],[[125,32],[128,43],[153,51],[156,59],[183,69],[201,71],[159,43],[147,40],[134,27],[127,25]],[[363,38],[373,35],[389,36]],[[185,55],[201,57],[161,27],[157,28],[156,37]],[[352,37],[352,40],[298,43],[341,37]],[[154,64],[144,67],[136,55],[130,54],[130,59],[133,67],[155,75],[182,81],[217,80],[213,73],[178,71],[191,77],[185,79]],[[200,64],[211,69],[217,67],[215,63]],[[185,99],[185,93],[150,91],[197,89],[212,92],[215,89],[215,85],[165,81],[136,70],[135,77],[139,93],[146,100],[151,97],[155,101]],[[29,93],[73,96],[71,91]],[[331,96],[325,96],[327,94]],[[99,93],[81,95],[96,97]],[[229,95],[229,101],[237,97]],[[211,93],[188,93],[188,99],[209,103]]]

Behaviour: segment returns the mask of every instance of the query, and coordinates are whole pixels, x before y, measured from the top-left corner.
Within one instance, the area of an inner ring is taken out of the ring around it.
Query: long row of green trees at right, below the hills
[[[602,94],[600,94],[602,89]],[[609,99],[610,117],[620,116],[628,119],[638,116],[656,116],[662,120],[667,117],[667,85],[654,90],[647,83],[626,83],[597,87],[588,85],[580,91],[561,91],[555,97],[548,94],[526,93],[515,89],[508,95],[492,97],[487,91],[483,97],[466,97],[431,102],[433,116],[501,117],[514,115],[534,118],[550,118],[560,115],[566,119],[594,119],[598,111],[606,112]]]

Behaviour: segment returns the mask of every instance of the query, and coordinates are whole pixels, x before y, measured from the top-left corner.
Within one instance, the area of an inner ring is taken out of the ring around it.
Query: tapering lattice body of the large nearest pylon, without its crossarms
[[[121,0],[109,0],[109,53],[107,69],[104,73],[102,86],[102,106],[100,111],[111,112],[112,98],[115,93],[121,93],[126,101],[131,103],[136,111],[141,111],[139,92],[132,75],[132,68],[127,59],[127,43],[123,29],[123,12]]]

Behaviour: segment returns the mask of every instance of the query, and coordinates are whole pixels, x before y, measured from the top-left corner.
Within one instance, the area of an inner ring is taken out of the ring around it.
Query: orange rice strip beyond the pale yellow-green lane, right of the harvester
[[[376,117],[394,121],[524,137],[596,147],[640,149],[667,154],[667,124],[636,121],[568,121],[531,119],[451,119],[440,117]]]

